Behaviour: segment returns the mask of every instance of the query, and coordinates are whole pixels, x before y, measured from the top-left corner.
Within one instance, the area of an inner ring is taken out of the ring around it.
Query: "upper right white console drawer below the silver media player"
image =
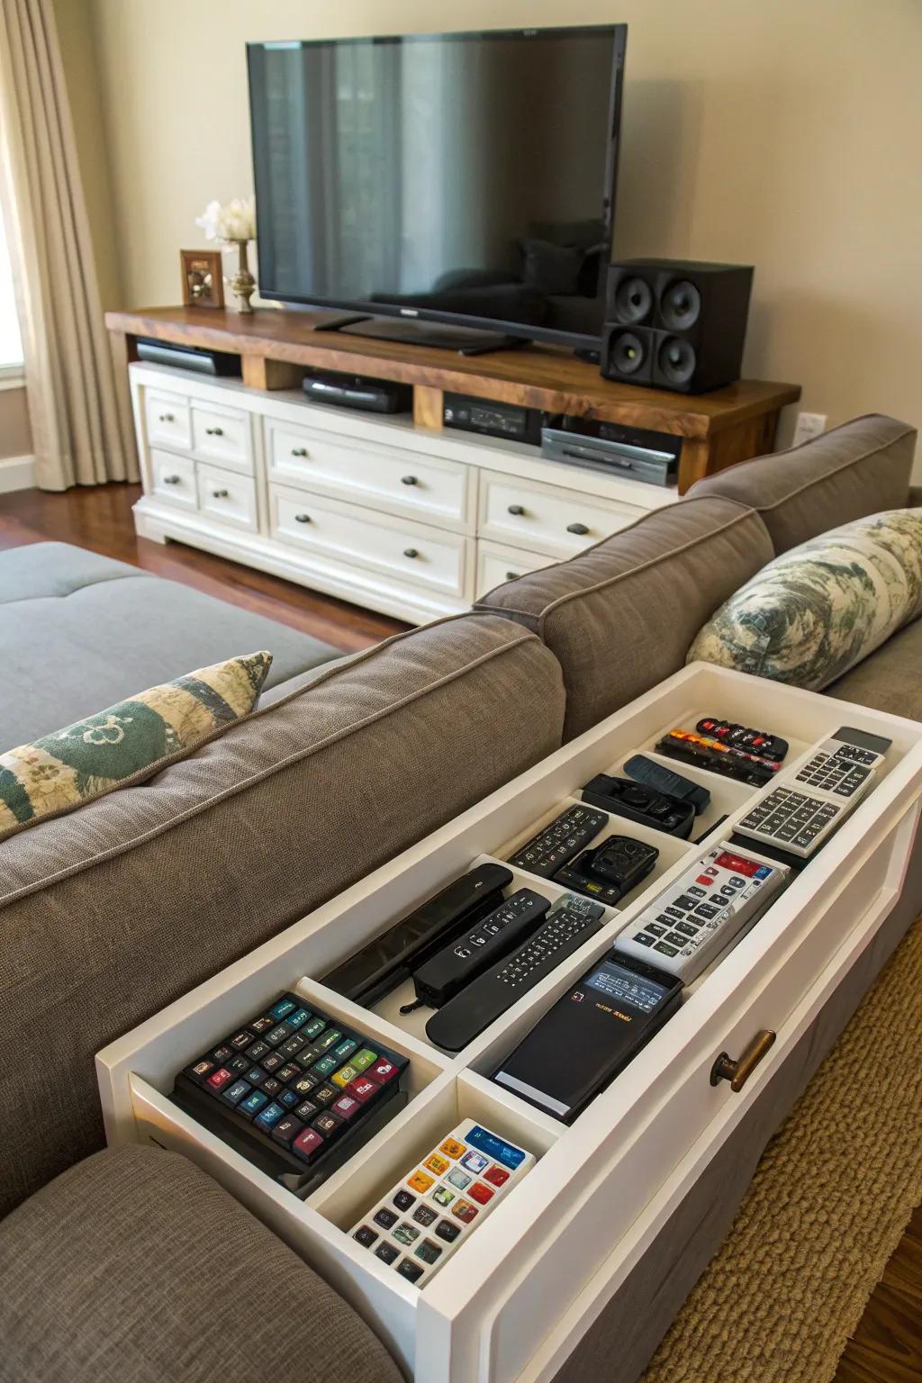
[[[581,495],[538,480],[481,472],[478,535],[554,557],[571,557],[626,528],[643,513],[644,509],[633,505]]]

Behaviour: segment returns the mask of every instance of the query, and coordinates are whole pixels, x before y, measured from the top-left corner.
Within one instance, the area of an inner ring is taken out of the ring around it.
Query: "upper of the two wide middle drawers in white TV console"
[[[469,496],[474,477],[462,462],[271,419],[267,431],[272,480],[372,508],[383,503],[424,523],[473,523]]]

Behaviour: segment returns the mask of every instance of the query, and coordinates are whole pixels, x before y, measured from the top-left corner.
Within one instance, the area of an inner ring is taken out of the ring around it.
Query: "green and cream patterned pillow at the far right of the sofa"
[[[890,509],[775,557],[711,617],[686,662],[817,692],[921,614],[922,509]]]

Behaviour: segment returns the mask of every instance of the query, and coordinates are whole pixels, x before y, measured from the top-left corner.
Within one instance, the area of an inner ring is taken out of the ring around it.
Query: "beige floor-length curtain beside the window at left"
[[[53,0],[0,0],[0,198],[21,299],[36,483],[66,490],[137,480]]]

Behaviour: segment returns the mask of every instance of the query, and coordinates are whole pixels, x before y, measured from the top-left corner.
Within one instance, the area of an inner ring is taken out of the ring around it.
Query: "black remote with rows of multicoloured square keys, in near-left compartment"
[[[300,1192],[401,1108],[408,1065],[286,993],[185,1066],[173,1099]]]

